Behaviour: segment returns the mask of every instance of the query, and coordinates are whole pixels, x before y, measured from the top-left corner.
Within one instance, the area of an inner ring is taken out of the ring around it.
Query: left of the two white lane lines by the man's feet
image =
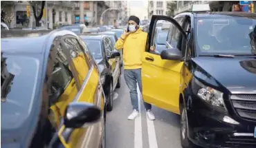
[[[140,112],[140,90],[137,85],[138,93],[138,118],[134,120],[134,148],[143,148],[143,130],[141,126],[141,112]]]

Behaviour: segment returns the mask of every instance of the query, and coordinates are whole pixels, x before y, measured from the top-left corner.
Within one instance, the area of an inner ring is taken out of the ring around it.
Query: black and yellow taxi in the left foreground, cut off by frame
[[[1,31],[1,147],[104,147],[105,98],[89,53],[67,30]]]

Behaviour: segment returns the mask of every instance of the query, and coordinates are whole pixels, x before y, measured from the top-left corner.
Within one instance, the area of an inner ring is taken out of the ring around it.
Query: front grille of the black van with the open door
[[[256,94],[236,94],[230,96],[230,100],[239,116],[256,120]]]

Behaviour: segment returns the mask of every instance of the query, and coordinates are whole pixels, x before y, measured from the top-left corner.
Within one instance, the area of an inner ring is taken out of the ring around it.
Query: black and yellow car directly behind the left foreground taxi
[[[100,81],[107,97],[107,111],[113,109],[113,91],[121,86],[120,53],[114,50],[109,36],[80,35],[100,69]]]

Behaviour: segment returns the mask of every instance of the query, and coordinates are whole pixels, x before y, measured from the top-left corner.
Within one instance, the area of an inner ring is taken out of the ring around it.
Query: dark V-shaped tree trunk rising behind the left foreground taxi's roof
[[[29,1],[32,7],[33,14],[35,17],[35,26],[39,27],[39,21],[42,19],[44,14],[44,6],[46,1]]]

